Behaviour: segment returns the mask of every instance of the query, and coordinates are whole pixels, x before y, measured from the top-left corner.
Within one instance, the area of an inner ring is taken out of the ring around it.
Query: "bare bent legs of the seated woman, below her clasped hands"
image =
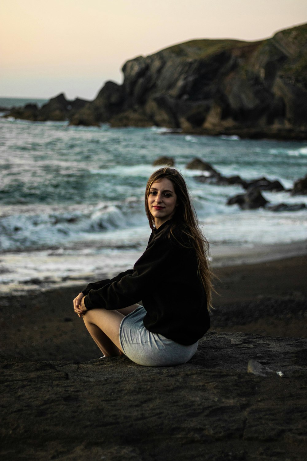
[[[123,354],[119,343],[119,327],[122,319],[137,307],[139,304],[133,304],[133,306],[118,311],[91,309],[82,316],[87,331],[105,356],[112,357]]]

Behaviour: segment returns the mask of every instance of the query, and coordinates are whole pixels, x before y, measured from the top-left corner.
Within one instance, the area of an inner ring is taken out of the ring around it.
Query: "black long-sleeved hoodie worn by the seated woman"
[[[133,269],[82,290],[89,309],[122,309],[142,300],[144,325],[180,344],[193,344],[210,327],[206,293],[197,275],[196,251],[172,221],[155,229]]]

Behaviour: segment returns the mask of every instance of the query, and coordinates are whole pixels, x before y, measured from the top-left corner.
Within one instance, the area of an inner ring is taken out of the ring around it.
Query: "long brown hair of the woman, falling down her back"
[[[206,237],[199,229],[198,219],[195,212],[195,208],[191,204],[186,183],[179,171],[174,168],[160,168],[159,170],[152,173],[148,179],[145,189],[145,210],[149,220],[151,230],[154,228],[155,220],[149,211],[148,207],[148,196],[151,188],[151,184],[156,181],[161,181],[162,178],[167,178],[174,184],[175,193],[177,195],[177,207],[174,214],[173,224],[170,227],[170,234],[173,235],[174,227],[176,222],[185,224],[185,234],[189,236],[193,247],[195,248],[198,263],[198,275],[203,284],[203,287],[207,295],[208,309],[212,308],[212,277],[213,274],[209,268],[209,243]]]

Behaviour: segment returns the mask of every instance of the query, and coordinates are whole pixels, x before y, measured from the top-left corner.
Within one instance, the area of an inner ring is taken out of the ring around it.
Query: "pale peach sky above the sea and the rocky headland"
[[[1,0],[0,96],[93,99],[136,56],[306,22],[307,0]]]

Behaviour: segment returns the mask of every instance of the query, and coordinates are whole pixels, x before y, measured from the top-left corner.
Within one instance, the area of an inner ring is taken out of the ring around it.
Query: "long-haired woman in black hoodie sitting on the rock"
[[[74,310],[105,356],[125,354],[145,366],[179,365],[191,359],[210,327],[208,243],[177,170],[151,175],[145,210],[152,233],[134,268],[87,285],[74,299]]]

